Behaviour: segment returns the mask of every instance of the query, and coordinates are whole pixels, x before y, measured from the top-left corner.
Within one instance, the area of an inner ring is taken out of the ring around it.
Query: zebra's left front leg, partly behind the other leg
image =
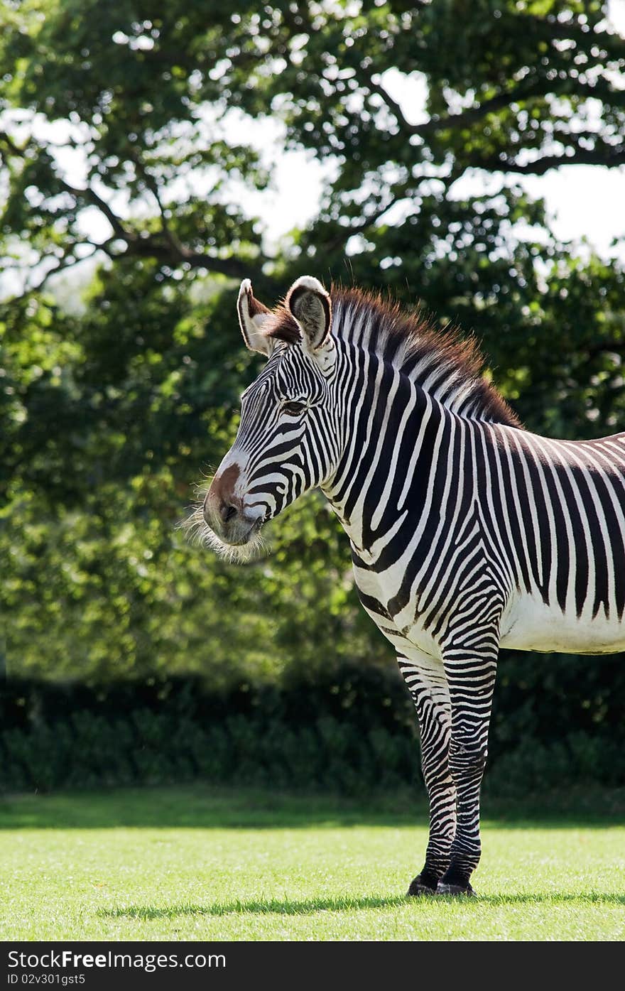
[[[420,651],[397,658],[410,690],[421,737],[421,765],[430,802],[430,836],[425,864],[414,878],[409,895],[433,895],[450,865],[456,833],[456,788],[449,767],[452,726],[450,694],[440,661]]]

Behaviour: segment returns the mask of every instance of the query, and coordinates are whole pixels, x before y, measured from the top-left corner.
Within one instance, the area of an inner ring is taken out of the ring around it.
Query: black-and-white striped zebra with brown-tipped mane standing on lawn
[[[625,648],[625,433],[530,433],[474,339],[357,288],[304,275],[270,310],[245,279],[238,313],[266,364],[193,523],[250,560],[268,519],[326,495],[417,712],[430,829],[408,895],[474,895],[499,647]]]

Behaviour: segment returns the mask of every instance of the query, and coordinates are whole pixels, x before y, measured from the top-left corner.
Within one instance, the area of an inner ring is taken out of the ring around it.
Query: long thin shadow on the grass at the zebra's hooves
[[[469,910],[478,909],[480,905],[562,905],[575,902],[581,905],[623,905],[625,895],[602,894],[589,892],[587,894],[512,894],[512,895],[483,895],[477,898],[436,897],[425,899],[407,898],[396,895],[390,898],[367,896],[365,898],[314,898],[300,902],[290,902],[275,898],[267,900],[234,901],[216,903],[214,905],[169,905],[156,908],[154,905],[127,905],[115,909],[100,909],[97,915],[106,919],[137,919],[141,922],[151,922],[156,919],[175,919],[177,916],[231,916],[231,915],[280,915],[308,916],[315,912],[354,912],[362,909],[387,909],[405,905],[433,907],[456,904]],[[436,911],[436,909],[434,910]]]

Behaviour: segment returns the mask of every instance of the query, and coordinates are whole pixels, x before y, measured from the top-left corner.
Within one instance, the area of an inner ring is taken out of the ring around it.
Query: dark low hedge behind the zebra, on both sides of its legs
[[[547,678],[540,693],[528,683],[531,671],[516,692],[501,686],[487,796],[622,785],[625,675],[622,665],[606,668],[609,696],[593,698],[588,677],[566,707],[566,678],[564,686]],[[368,795],[414,788],[419,778],[416,719],[391,664],[291,671],[287,685],[212,690],[188,677],[90,689],[12,680],[0,705],[7,792],[201,780]]]

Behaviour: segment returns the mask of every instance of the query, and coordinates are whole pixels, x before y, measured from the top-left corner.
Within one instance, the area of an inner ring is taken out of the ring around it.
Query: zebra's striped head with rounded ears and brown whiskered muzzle
[[[238,310],[246,345],[268,360],[243,393],[237,438],[196,521],[219,553],[248,560],[262,524],[336,471],[341,430],[332,303],[321,282],[298,278],[270,311],[245,279]]]

